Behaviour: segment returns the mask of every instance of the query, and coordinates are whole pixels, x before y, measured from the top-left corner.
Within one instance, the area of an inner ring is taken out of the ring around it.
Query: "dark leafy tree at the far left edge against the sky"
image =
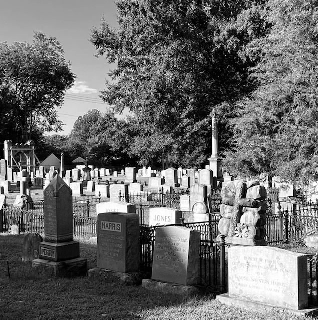
[[[60,130],[55,107],[62,105],[74,78],[54,37],[35,32],[32,44],[0,43],[1,138],[25,142]]]

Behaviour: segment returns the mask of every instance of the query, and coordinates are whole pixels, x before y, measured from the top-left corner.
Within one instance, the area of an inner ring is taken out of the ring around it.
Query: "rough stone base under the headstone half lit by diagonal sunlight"
[[[142,280],[142,287],[152,290],[161,291],[164,293],[178,294],[182,296],[196,295],[199,293],[199,289],[192,285],[182,285],[177,283],[162,282],[152,279]]]

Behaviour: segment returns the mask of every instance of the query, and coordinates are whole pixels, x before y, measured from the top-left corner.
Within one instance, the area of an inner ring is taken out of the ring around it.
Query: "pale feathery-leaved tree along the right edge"
[[[304,183],[318,164],[318,1],[271,0],[268,36],[248,50],[260,60],[257,89],[237,103],[235,149],[224,165],[235,175],[267,173]]]

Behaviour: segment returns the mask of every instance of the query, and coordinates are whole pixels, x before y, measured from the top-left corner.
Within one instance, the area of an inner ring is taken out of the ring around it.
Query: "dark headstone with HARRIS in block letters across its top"
[[[97,267],[116,272],[139,270],[139,216],[100,213],[97,216]]]

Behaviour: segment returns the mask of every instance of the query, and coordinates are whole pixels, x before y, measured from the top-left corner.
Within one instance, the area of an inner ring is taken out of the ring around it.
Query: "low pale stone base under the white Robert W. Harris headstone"
[[[216,299],[226,305],[234,305],[237,307],[243,307],[247,309],[253,309],[253,310],[261,310],[263,309],[281,309],[281,310],[287,310],[295,315],[310,315],[310,316],[315,316],[318,315],[318,308],[315,307],[308,307],[306,309],[301,309],[301,310],[293,310],[293,309],[287,309],[287,308],[282,308],[278,306],[273,306],[273,305],[268,305],[268,304],[263,304],[260,302],[255,302],[255,301],[249,301],[245,299],[240,299],[236,297],[229,297],[228,293],[220,294],[216,296]]]

